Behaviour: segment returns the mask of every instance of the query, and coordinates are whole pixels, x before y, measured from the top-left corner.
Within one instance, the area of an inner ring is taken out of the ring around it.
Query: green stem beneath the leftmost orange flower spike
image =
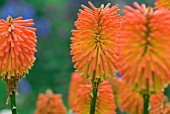
[[[10,99],[11,99],[12,114],[17,114],[17,107],[16,107],[16,100],[15,100],[15,91],[13,91],[12,95],[10,95]]]

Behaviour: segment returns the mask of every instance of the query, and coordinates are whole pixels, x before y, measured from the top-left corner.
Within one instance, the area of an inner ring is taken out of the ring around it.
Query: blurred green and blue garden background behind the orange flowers
[[[80,4],[88,0],[0,0],[0,18],[23,16],[34,19],[37,28],[37,60],[29,75],[19,82],[17,105],[19,114],[34,114],[39,93],[51,88],[63,95],[68,109],[68,89],[71,73],[74,71],[70,56],[71,30],[77,18]],[[134,0],[91,0],[99,7],[101,3],[119,4],[120,13],[124,5],[132,5]],[[154,0],[136,0],[153,6]],[[168,94],[168,89],[167,89]],[[0,79],[0,110],[8,109],[4,82]],[[7,113],[6,113],[7,114]]]

